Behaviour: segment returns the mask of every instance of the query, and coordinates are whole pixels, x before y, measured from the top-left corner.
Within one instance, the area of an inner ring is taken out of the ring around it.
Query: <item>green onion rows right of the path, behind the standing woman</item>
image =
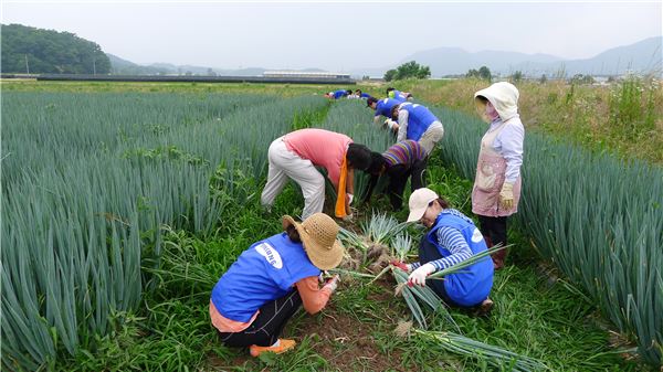
[[[441,142],[442,158],[474,179],[477,119],[434,109],[454,136]],[[519,225],[608,318],[633,334],[640,352],[660,363],[663,344],[663,174],[642,162],[526,137]],[[646,326],[645,326],[646,325]]]

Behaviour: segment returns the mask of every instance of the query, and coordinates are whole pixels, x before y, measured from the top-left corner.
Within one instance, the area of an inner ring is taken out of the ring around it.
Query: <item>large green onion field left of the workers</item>
[[[230,203],[255,198],[265,141],[288,131],[295,113],[326,105],[243,99],[3,95],[4,368],[35,370],[93,348],[110,315],[135,310],[177,258],[161,256],[161,225],[221,228]]]

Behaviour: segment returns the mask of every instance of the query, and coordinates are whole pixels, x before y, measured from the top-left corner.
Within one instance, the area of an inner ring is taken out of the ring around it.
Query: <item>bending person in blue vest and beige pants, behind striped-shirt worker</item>
[[[421,144],[425,153],[432,153],[435,145],[444,136],[440,119],[428,107],[403,103],[391,108],[391,118],[397,120],[397,141],[412,139]]]

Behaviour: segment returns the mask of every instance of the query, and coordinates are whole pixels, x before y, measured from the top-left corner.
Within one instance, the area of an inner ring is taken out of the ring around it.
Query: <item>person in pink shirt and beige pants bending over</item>
[[[278,137],[267,151],[270,167],[261,203],[271,208],[290,178],[299,184],[304,194],[302,217],[322,212],[325,178],[315,169],[318,166],[327,170],[336,190],[336,216],[350,216],[355,169],[368,169],[370,152],[366,146],[354,144],[350,137],[324,129],[299,129]]]

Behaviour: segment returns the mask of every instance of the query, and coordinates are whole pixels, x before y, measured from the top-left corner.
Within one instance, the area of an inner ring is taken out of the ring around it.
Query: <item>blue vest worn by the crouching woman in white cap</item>
[[[456,228],[461,232],[465,242],[472,249],[472,254],[478,254],[487,249],[483,235],[474,226],[472,220],[442,212],[435,221],[435,225],[427,234],[429,242],[433,243],[443,257],[451,252],[438,243],[438,230],[442,226]],[[464,273],[451,274],[444,278],[444,289],[449,297],[461,306],[474,306],[483,301],[493,288],[493,261],[491,257],[475,263],[463,269]]]

